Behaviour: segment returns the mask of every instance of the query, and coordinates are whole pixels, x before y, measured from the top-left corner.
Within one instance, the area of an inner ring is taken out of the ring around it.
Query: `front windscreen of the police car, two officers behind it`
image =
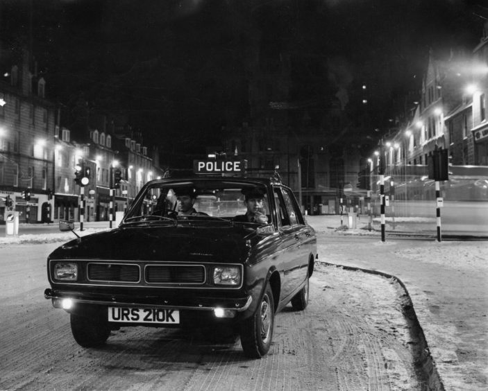
[[[260,213],[268,215],[269,202],[265,186],[246,182],[156,182],[146,187],[142,197],[124,220],[137,216],[212,216],[233,219],[246,214],[246,198],[262,196]],[[187,208],[187,210],[183,210]]]

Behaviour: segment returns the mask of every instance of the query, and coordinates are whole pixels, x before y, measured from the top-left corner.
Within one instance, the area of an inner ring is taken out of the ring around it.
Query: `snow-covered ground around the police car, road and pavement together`
[[[192,389],[197,384],[211,388],[211,379],[206,375],[209,368],[203,370],[201,365],[194,365],[197,355],[197,360],[212,363],[212,374],[219,379],[232,379],[235,389],[282,389],[288,387],[285,384],[297,385],[296,379],[304,376],[310,379],[308,386],[316,389],[419,389],[421,381],[412,377],[412,360],[415,359],[412,349],[418,341],[407,332],[409,326],[401,315],[399,301],[403,288],[392,285],[388,275],[403,282],[410,294],[444,388],[487,388],[486,241],[437,243],[432,238],[387,236],[386,242],[382,243],[378,232],[337,230],[339,216],[308,216],[308,223],[317,230],[320,263],[376,270],[384,275],[317,265],[317,273],[311,279],[309,308],[303,315],[292,311],[279,314],[274,353],[265,360],[246,363],[247,370],[239,369],[244,364],[237,357],[238,341],[226,347],[225,356],[215,356],[208,351],[202,353],[201,346],[195,351],[191,340],[182,341],[168,331],[119,331],[112,342],[115,345],[109,345],[112,347],[108,350],[90,351],[77,347],[69,331],[69,316],[52,309],[42,297],[42,291],[49,285],[45,276],[45,258],[62,241],[74,238],[73,234],[58,232],[0,238],[3,312],[15,313],[8,322],[7,318],[2,321],[1,340],[4,343],[0,347],[0,356],[4,369],[0,378],[6,383],[0,388],[19,385],[17,379],[26,376],[31,381],[24,384],[28,389],[35,389],[35,385],[51,387],[56,384],[72,388],[76,381],[85,381],[88,387],[96,388],[100,383],[76,372],[77,365],[85,372],[99,372],[97,376],[107,382],[108,388],[112,386],[114,367],[119,367],[117,376],[131,374],[132,381],[142,381],[142,374],[151,372],[153,385],[158,384],[154,377],[157,377],[158,368],[165,367],[168,382],[165,384],[174,385],[175,389]],[[101,229],[106,227],[90,227],[81,234]],[[17,258],[15,254],[19,254]],[[24,279],[19,281],[21,277]],[[15,327],[16,324],[21,327]],[[148,339],[148,336],[152,337]],[[8,342],[19,338],[28,342],[23,349]],[[156,358],[162,354],[155,348],[156,341],[171,341],[173,347],[179,345],[183,356],[170,354],[164,360]],[[60,351],[49,350],[57,343],[65,347]],[[312,353],[307,351],[308,346],[313,347]],[[29,349],[34,348],[41,350],[32,353]],[[23,355],[39,358],[44,354],[42,349],[56,354],[50,369],[44,368],[38,359],[29,359],[28,365],[21,365],[25,360]],[[12,360],[15,354],[18,356]],[[329,356],[334,359],[326,359]],[[103,365],[109,359],[112,359],[110,365]],[[160,366],[153,360],[158,360]],[[302,361],[312,363],[312,366],[297,365]],[[192,381],[183,385],[178,383],[181,381],[178,372],[183,370],[185,363],[195,368],[191,370]],[[362,363],[366,363],[366,367]],[[134,369],[121,372],[124,365],[132,365]],[[353,373],[349,373],[351,365],[356,367]],[[360,370],[360,367],[364,368]],[[248,370],[253,374],[251,379]],[[327,383],[330,376],[334,376],[335,381]],[[203,383],[199,383],[201,381]]]

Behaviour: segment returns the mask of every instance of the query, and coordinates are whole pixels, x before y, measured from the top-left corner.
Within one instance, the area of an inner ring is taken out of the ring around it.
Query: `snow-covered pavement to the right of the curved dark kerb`
[[[425,229],[409,236],[390,229],[382,242],[378,225],[370,232],[362,216],[356,229],[341,227],[339,216],[307,220],[320,261],[391,275],[405,286],[441,381],[433,389],[488,389],[488,241],[438,242]]]

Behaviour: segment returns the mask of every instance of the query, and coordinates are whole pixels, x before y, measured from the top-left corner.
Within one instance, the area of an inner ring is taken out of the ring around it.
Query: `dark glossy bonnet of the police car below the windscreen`
[[[49,258],[236,262],[258,241],[244,227],[121,227],[65,243]]]

